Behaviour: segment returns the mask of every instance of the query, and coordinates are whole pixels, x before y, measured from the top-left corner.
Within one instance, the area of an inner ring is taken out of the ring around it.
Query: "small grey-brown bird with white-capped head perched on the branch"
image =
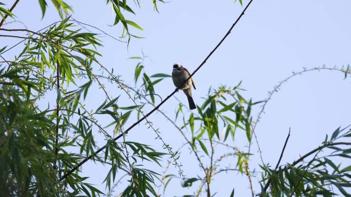
[[[188,98],[189,108],[190,108],[190,110],[193,110],[194,108],[196,108],[194,100],[192,99],[192,96],[191,96],[191,85],[196,90],[194,80],[192,80],[192,78],[190,78],[183,85],[183,83],[186,81],[186,79],[189,76],[190,76],[189,71],[186,68],[184,68],[180,63],[173,64],[173,71],[172,71],[173,83],[174,83],[175,87],[178,87],[179,89],[183,90],[184,94]]]

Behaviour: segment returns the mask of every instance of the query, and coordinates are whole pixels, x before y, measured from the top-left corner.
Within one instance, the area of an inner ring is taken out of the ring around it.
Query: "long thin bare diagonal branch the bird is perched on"
[[[198,72],[200,70],[200,68],[206,63],[207,59],[214,53],[214,51],[216,51],[219,46],[221,46],[222,42],[225,40],[225,38],[230,34],[231,30],[235,27],[235,25],[238,23],[238,21],[240,20],[240,18],[244,15],[244,12],[247,10],[247,8],[249,7],[249,5],[251,4],[253,0],[251,0],[245,7],[245,9],[241,12],[241,14],[239,15],[239,17],[237,18],[237,20],[235,21],[235,23],[232,24],[232,26],[229,28],[228,32],[224,35],[224,37],[221,39],[221,41],[218,43],[218,45],[216,47],[214,47],[214,49],[207,55],[207,57],[203,60],[203,62],[199,65],[199,67],[191,73],[191,75],[186,79],[186,81],[183,83],[185,84],[196,72]],[[182,84],[182,85],[183,85]],[[182,86],[181,85],[181,86]],[[122,134],[120,134],[119,136],[115,137],[113,140],[116,141],[118,139],[120,139],[123,135],[128,134],[129,130],[131,130],[134,126],[138,125],[140,122],[142,122],[143,120],[145,120],[148,116],[150,116],[153,112],[157,111],[158,108],[163,105],[163,103],[165,103],[171,96],[173,96],[173,94],[175,94],[179,89],[176,88],[170,95],[168,95],[160,104],[158,104],[157,106],[155,106],[149,113],[147,113],[143,118],[141,118],[140,120],[136,121],[135,123],[133,123],[129,128],[127,128]],[[106,148],[106,145],[101,147],[100,149],[96,150],[94,152],[93,155],[98,154],[100,151],[102,151],[104,148]],[[71,170],[69,170],[66,174],[64,174],[64,176],[60,179],[60,181],[64,180],[67,176],[69,176],[69,174],[71,174],[72,172],[74,172],[77,168],[79,168],[80,166],[82,166],[85,162],[87,162],[89,159],[92,158],[92,155],[90,155],[89,157],[85,158],[81,163],[79,163],[78,165],[76,165],[75,167],[73,167]]]

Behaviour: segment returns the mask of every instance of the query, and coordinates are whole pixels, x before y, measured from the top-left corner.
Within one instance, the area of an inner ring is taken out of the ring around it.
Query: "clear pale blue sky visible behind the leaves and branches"
[[[12,2],[5,3],[11,5]],[[120,35],[121,26],[109,26],[113,23],[114,15],[104,1],[67,3],[73,7],[75,19],[99,27],[114,36]],[[247,0],[243,0],[244,5],[247,3]],[[136,16],[130,17],[144,29],[132,32],[146,37],[145,39],[132,39],[127,50],[124,43],[103,37],[104,48],[99,48],[99,53],[103,54],[99,60],[107,68],[114,68],[115,73],[121,75],[128,84],[133,84],[136,62],[127,58],[141,56],[142,51],[151,58],[151,61],[145,61],[148,74],[170,74],[174,62],[181,62],[189,71],[193,71],[217,45],[243,9],[232,0],[171,1],[159,4],[160,13],[153,10],[151,1],[143,1],[141,7],[134,8]],[[253,0],[223,45],[193,77],[197,84],[197,90],[193,91],[195,102],[202,103],[201,97],[207,94],[210,86],[235,86],[240,81],[247,90],[243,95],[259,101],[265,99],[268,91],[293,71],[301,71],[303,67],[321,67],[323,64],[327,67],[347,65],[350,63],[351,46],[350,8],[350,1]],[[51,3],[45,18],[41,20],[42,13],[37,1],[20,1],[14,14],[31,30],[39,30],[52,21],[60,20]],[[10,27],[22,26],[4,26]],[[15,41],[17,39],[0,38],[2,46],[12,45]],[[13,55],[21,48],[22,46],[4,56],[13,59]],[[95,71],[98,69],[96,66]],[[299,155],[317,147],[326,134],[331,134],[338,126],[351,123],[348,114],[351,110],[351,84],[349,78],[344,80],[343,77],[342,73],[335,71],[305,73],[289,80],[272,97],[256,129],[266,163],[275,165],[278,161],[289,127],[291,137],[281,163],[294,161]],[[107,84],[107,88],[112,97],[122,94],[114,85]],[[156,86],[157,93],[163,98],[173,90],[170,78]],[[86,104],[93,109],[103,102],[104,95],[97,88],[90,93],[93,94]],[[186,103],[183,93],[179,92],[176,96]],[[54,97],[54,93],[46,96],[48,100]],[[128,99],[125,99],[125,103],[125,106],[132,105]],[[162,105],[161,110],[174,117],[177,104],[178,101],[171,98]],[[259,106],[253,108],[253,112],[258,111]],[[179,132],[160,114],[152,114],[149,120],[160,128],[163,139],[174,150],[184,143]],[[108,123],[104,119],[99,122]],[[128,121],[126,127],[131,123]],[[127,138],[165,151],[161,148],[161,142],[154,139],[153,131],[143,123],[134,128]],[[236,141],[231,143],[244,148],[244,138],[244,134],[238,134]],[[95,134],[95,139],[101,146],[105,143],[101,134]],[[256,153],[256,144],[253,145],[253,150]],[[184,165],[184,174],[190,178],[199,174],[200,168],[189,152],[188,148],[182,149],[180,161]],[[237,160],[229,162],[235,165]],[[260,170],[256,165],[258,162],[258,157],[251,157],[251,169]],[[157,167],[154,169],[160,170]],[[90,183],[99,185],[109,169],[101,165],[97,168],[93,162],[89,162],[82,170],[85,176],[91,177],[88,180]],[[173,168],[170,172],[177,173],[177,169]],[[254,179],[257,192],[260,191],[258,179]],[[236,188],[236,196],[250,194],[246,177],[236,172],[224,173],[215,178],[211,190],[218,192],[217,196],[229,196],[232,187]],[[99,188],[104,189],[103,186]],[[194,188],[182,188],[180,182],[175,180],[168,186],[166,196],[191,194]]]

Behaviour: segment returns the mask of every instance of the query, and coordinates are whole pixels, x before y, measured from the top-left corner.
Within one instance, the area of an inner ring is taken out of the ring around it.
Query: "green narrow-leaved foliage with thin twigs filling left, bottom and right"
[[[250,168],[250,145],[258,144],[256,125],[266,103],[279,90],[281,84],[296,75],[320,70],[342,72],[346,78],[350,74],[349,67],[304,69],[284,79],[265,100],[245,98],[242,96],[242,84],[239,83],[235,86],[223,85],[217,89],[209,89],[207,95],[204,95],[204,102],[190,113],[180,102],[175,109],[174,119],[156,108],[165,121],[171,122],[185,142],[174,151],[162,139],[157,124],[145,118],[147,127],[153,130],[157,141],[164,148],[156,150],[149,145],[129,141],[124,133],[124,126],[128,120],[136,121],[145,117],[146,107],[156,106],[159,99],[157,84],[170,75],[148,74],[145,70],[145,57],[132,57],[138,63],[131,82],[133,85],[128,85],[113,70],[107,70],[99,62],[98,58],[103,54],[98,51],[103,43],[97,38],[97,33],[87,33],[77,28],[81,23],[67,16],[72,11],[67,3],[61,0],[51,2],[62,21],[40,31],[5,29],[2,25],[6,19],[15,17],[12,10],[18,1],[10,9],[0,3],[0,36],[22,39],[25,43],[23,50],[12,60],[1,56],[12,47],[0,46],[0,57],[3,58],[0,63],[2,196],[167,196],[166,188],[174,179],[180,179],[182,187],[191,189],[192,194],[184,196],[213,196],[216,194],[216,188],[211,188],[213,178],[229,171],[240,172],[239,176],[247,178],[251,189],[248,195],[252,196],[334,196],[335,193],[351,196],[347,191],[351,187],[351,166],[335,162],[338,157],[350,161],[351,130],[348,127],[339,127],[331,137],[326,136],[319,147],[291,163],[278,162],[277,167],[272,168],[263,162],[261,156],[262,171],[257,172]],[[152,1],[156,11],[159,2],[163,1]],[[47,2],[40,0],[38,3],[44,17]],[[126,38],[128,43],[131,37],[138,38],[130,33],[130,27],[142,30],[123,15],[124,12],[135,14],[129,3],[125,0],[107,0],[107,4],[115,12],[113,25],[122,24],[121,37]],[[138,0],[134,3],[140,6]],[[242,1],[239,3],[242,4]],[[11,34],[6,34],[9,32]],[[26,32],[28,36],[17,35],[19,32]],[[96,68],[102,71],[96,72]],[[106,90],[107,83],[121,89],[123,96],[130,98],[134,105],[124,104],[120,100],[121,95],[112,98]],[[89,89],[94,84],[100,87],[105,100],[97,108],[90,110],[85,105],[85,99],[92,94]],[[51,102],[55,104],[43,108],[40,101],[48,94],[56,95],[56,100]],[[254,120],[253,108],[259,109],[262,104],[259,118]],[[113,121],[101,125],[99,119],[95,118],[97,116]],[[245,134],[247,149],[235,145],[238,133]],[[96,145],[94,134],[104,136],[103,147]],[[116,135],[122,135],[123,139],[115,138]],[[184,147],[190,148],[192,156],[196,158],[194,167],[199,166],[201,169],[197,177],[189,178],[184,175],[181,158]],[[227,152],[219,154],[217,150],[223,147]],[[72,149],[75,151],[71,151]],[[334,151],[321,156],[324,149]],[[283,152],[284,149],[282,155]],[[235,158],[231,160],[235,162],[226,166],[223,161],[229,157]],[[161,163],[165,158],[169,159],[167,166]],[[106,191],[97,189],[96,184],[101,183],[86,181],[87,177],[80,167],[88,160],[108,167],[109,171],[103,182]],[[150,170],[145,164],[154,164],[160,170]],[[168,172],[172,165],[178,170],[178,174]],[[259,174],[262,181],[254,183],[252,177]],[[119,185],[121,182],[124,182],[122,186]],[[261,187],[261,191],[255,193],[255,184]],[[235,190],[230,188],[228,195],[234,196]]]

